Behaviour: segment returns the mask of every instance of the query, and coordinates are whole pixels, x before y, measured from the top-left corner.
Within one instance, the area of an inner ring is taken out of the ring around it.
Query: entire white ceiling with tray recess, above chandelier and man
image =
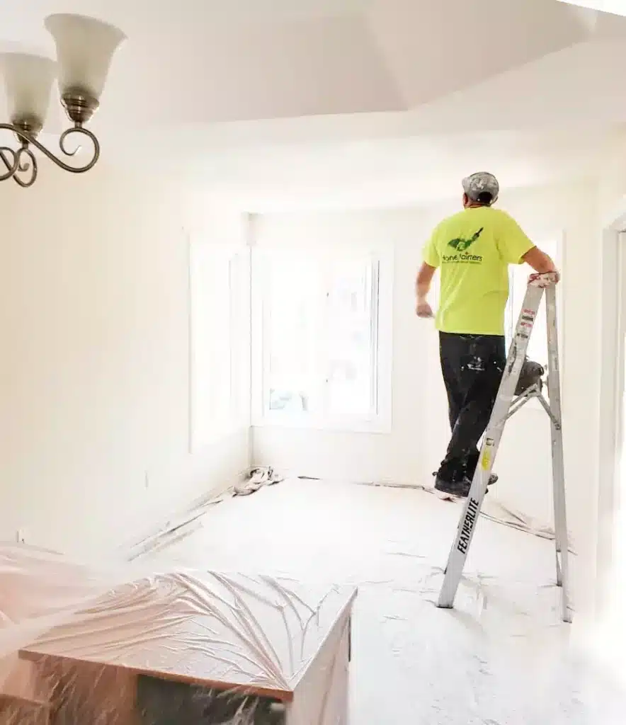
[[[0,46],[52,51],[50,12],[128,34],[94,120],[108,161],[257,210],[563,178],[626,121],[626,18],[556,0],[4,0]]]

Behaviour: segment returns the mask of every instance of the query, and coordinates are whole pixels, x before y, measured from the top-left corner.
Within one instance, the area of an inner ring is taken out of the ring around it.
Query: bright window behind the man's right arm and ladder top
[[[561,264],[561,244],[559,241],[543,241],[538,245],[543,251],[548,254],[556,264],[557,268]],[[511,265],[508,272],[508,303],[506,305],[505,315],[505,334],[506,334],[506,347],[508,349],[513,339],[515,332],[515,326],[517,319],[519,318],[519,312],[522,310],[522,302],[524,301],[524,295],[526,294],[526,288],[528,284],[528,278],[532,274],[532,269],[528,265]],[[563,349],[561,345],[561,333],[563,330],[562,320],[559,318],[559,312],[561,312],[562,305],[559,297],[559,289],[557,288],[556,294],[556,305],[557,310],[557,323],[559,324],[559,352]],[[527,355],[535,363],[540,363],[547,370],[548,369],[548,326],[545,319],[545,297],[541,301],[540,309],[535,318],[535,325],[532,328],[532,335],[528,341]]]

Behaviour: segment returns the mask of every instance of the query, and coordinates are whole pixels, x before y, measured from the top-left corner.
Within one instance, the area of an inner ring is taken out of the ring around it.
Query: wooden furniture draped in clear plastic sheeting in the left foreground
[[[342,725],[354,587],[0,544],[2,725]]]

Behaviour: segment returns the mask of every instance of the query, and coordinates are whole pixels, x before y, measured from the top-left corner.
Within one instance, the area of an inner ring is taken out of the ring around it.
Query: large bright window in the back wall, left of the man
[[[255,423],[390,425],[392,261],[385,254],[255,251]]]

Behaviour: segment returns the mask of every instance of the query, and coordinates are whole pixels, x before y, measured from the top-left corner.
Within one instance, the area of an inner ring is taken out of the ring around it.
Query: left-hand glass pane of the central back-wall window
[[[265,280],[265,408],[319,410],[320,269],[302,254],[268,257]]]

